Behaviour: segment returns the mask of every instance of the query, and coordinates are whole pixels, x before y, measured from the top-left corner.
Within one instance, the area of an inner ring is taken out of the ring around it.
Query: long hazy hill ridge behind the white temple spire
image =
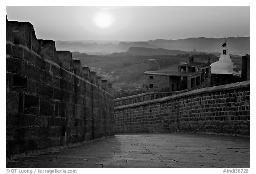
[[[221,52],[221,45],[224,38],[188,38],[178,40],[156,39],[149,40],[148,43],[168,50],[184,50],[202,52]],[[230,37],[227,38],[228,50],[231,54],[250,54],[250,37]]]

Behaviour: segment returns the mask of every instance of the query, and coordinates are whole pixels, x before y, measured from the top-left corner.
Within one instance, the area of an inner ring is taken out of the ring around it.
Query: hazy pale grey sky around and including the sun
[[[249,6],[7,6],[38,39],[126,40],[250,36]]]

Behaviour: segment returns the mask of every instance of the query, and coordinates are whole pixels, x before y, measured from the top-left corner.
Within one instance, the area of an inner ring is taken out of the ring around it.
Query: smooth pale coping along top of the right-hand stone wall
[[[157,99],[153,99],[153,100],[149,100],[149,101],[143,101],[140,103],[133,103],[133,104],[117,106],[117,107],[115,107],[115,110],[124,109],[124,108],[132,108],[132,107],[142,106],[142,105],[146,105],[146,104],[165,102],[165,101],[175,100],[178,98],[189,97],[189,96],[194,96],[194,95],[203,94],[203,93],[212,93],[212,92],[219,92],[219,91],[226,91],[226,90],[233,90],[233,89],[240,89],[240,88],[247,88],[247,87],[250,87],[250,80],[231,83],[231,84],[227,84],[227,85],[195,89],[192,91],[179,93],[179,94],[168,96],[168,97],[157,98]],[[125,97],[123,97],[123,98],[125,98]]]

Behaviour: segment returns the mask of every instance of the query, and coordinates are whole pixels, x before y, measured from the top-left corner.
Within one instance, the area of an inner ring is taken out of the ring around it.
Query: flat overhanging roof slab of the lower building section
[[[200,72],[186,72],[186,71],[146,71],[145,74],[150,75],[168,75],[168,76],[193,76],[200,74]]]

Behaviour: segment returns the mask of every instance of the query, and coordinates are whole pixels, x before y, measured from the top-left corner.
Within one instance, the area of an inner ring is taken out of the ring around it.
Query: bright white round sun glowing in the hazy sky
[[[98,13],[94,18],[94,23],[101,28],[108,28],[113,23],[113,16],[107,12]]]

